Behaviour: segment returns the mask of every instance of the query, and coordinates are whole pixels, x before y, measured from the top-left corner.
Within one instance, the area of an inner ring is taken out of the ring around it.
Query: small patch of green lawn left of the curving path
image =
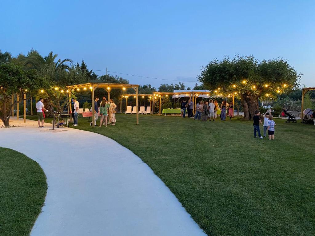
[[[46,176],[36,161],[0,147],[0,235],[29,235],[46,190]]]

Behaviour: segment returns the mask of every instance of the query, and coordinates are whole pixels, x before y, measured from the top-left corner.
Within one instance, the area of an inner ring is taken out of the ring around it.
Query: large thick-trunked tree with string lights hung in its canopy
[[[240,98],[244,119],[251,120],[259,108],[259,99],[276,99],[298,87],[301,74],[284,59],[258,61],[253,56],[213,59],[203,66],[199,76],[215,95]]]

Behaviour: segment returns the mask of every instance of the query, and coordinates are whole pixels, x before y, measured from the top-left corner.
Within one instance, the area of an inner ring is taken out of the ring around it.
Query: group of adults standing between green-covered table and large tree
[[[228,115],[230,117],[230,120],[234,117],[234,108],[233,108],[233,102],[230,101],[229,104],[227,104],[226,100],[224,100],[220,106],[221,108],[221,120],[226,120],[226,113],[228,112]],[[217,111],[219,110],[219,104],[217,100],[210,99],[209,103],[208,101],[200,101],[196,105],[196,113],[193,115],[193,108],[194,108],[194,102],[189,99],[188,102],[186,102],[186,99],[184,99],[181,102],[181,116],[185,118],[186,110],[188,109],[188,118],[194,118],[194,120],[202,120],[207,121],[208,118],[210,118],[209,121],[211,121],[211,118],[213,121],[217,118]],[[226,112],[227,111],[227,112]]]

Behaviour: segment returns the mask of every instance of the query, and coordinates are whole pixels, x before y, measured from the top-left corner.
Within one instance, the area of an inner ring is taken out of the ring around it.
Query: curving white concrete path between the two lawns
[[[21,122],[0,128],[0,146],[37,161],[47,176],[32,236],[205,235],[153,171],[117,142]]]

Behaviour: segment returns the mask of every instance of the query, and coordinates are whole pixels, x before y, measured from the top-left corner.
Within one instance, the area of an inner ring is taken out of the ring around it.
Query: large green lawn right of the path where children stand
[[[315,235],[315,127],[275,122],[274,141],[236,118],[140,115],[136,126],[117,114],[115,126],[92,128],[80,116],[75,128],[138,155],[208,235]]]

